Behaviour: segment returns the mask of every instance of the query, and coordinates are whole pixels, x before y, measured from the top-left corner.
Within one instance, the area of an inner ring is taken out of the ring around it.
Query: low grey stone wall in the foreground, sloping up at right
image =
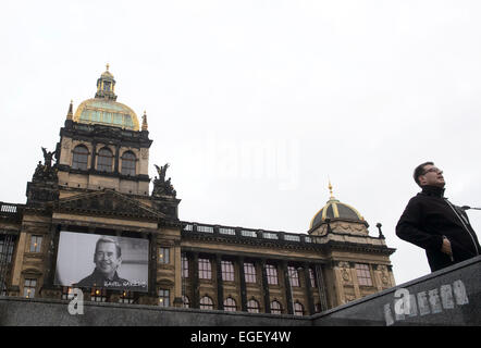
[[[409,304],[408,304],[409,303]],[[332,326],[481,325],[481,256],[311,316],[0,297],[0,325]]]

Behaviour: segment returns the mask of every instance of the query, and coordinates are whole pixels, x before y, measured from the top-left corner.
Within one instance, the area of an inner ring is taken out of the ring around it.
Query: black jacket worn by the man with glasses
[[[444,188],[423,186],[409,200],[396,226],[399,238],[425,249],[432,272],[473,258],[481,250],[466,212],[452,204],[455,212],[443,196]],[[441,251],[443,236],[449,239],[454,261]]]

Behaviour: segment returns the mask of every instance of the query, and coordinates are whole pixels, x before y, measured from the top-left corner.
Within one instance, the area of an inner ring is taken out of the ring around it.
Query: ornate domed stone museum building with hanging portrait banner
[[[0,296],[310,315],[395,285],[381,225],[332,188],[307,233],[180,220],[147,115],[114,88],[107,67],[42,148],[26,203],[0,202]]]

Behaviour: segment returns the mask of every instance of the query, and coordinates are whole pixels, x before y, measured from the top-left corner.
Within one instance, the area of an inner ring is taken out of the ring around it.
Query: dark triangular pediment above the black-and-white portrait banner
[[[148,220],[165,217],[165,214],[112,189],[60,199],[55,202],[54,210]]]

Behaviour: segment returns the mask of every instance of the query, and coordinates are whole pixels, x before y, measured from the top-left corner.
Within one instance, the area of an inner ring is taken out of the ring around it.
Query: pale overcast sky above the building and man
[[[180,219],[306,233],[330,178],[370,235],[383,224],[396,282],[425,275],[395,225],[427,160],[454,203],[481,206],[480,18],[461,0],[3,0],[0,200],[25,202],[40,147],[110,63]]]

